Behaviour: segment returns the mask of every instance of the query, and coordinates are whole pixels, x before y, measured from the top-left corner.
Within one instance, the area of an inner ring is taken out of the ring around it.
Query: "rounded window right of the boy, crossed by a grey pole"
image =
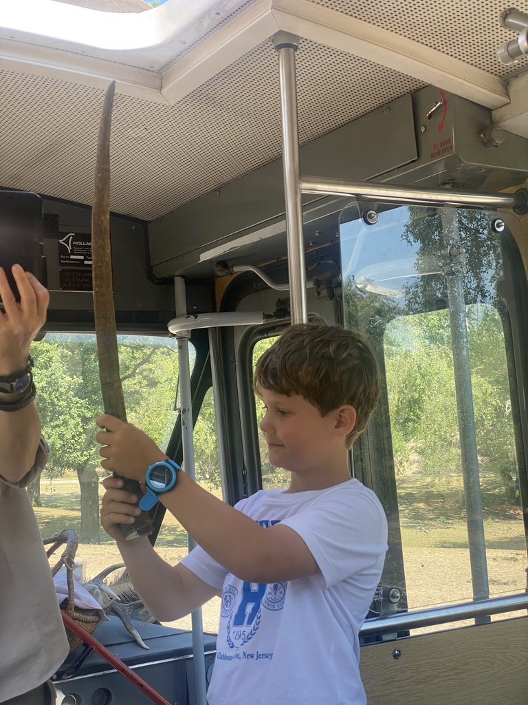
[[[526,583],[508,367],[494,307],[466,309],[489,595]],[[409,608],[472,599],[449,315],[398,317],[384,335]]]

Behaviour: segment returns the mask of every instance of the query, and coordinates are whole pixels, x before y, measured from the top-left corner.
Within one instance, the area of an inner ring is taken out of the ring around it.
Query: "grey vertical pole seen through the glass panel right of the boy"
[[[482,520],[482,496],[479,480],[477,434],[474,422],[473,392],[467,321],[464,300],[464,255],[460,247],[458,215],[454,208],[442,209],[442,230],[447,249],[448,265],[444,267],[449,301],[451,345],[455,371],[455,393],[458,411],[458,433],[464,480],[464,498],[467,522],[467,540],[470,548],[470,565],[474,599],[489,597],[486,539]],[[475,620],[482,624],[489,618]]]

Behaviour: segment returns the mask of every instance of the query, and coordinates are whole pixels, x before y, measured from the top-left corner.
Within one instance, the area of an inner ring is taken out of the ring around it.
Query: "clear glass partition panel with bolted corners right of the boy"
[[[508,228],[477,210],[395,207],[373,225],[359,211],[341,219],[344,312],[374,345],[382,395],[353,455],[389,518],[384,582],[400,609],[523,591]]]

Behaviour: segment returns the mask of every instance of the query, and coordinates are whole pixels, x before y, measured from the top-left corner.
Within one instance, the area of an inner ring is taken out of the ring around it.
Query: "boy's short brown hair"
[[[289,326],[258,359],[253,388],[298,394],[321,416],[344,404],[356,410],[350,448],[365,429],[379,396],[379,371],[369,341],[359,331],[324,321]]]

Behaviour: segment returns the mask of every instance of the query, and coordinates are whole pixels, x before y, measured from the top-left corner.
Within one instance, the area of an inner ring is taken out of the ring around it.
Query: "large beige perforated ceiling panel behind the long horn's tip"
[[[422,86],[396,71],[301,41],[301,143]],[[0,186],[91,204],[101,90],[0,75]],[[146,221],[277,159],[277,55],[265,42],[175,106],[117,95],[111,209]]]

